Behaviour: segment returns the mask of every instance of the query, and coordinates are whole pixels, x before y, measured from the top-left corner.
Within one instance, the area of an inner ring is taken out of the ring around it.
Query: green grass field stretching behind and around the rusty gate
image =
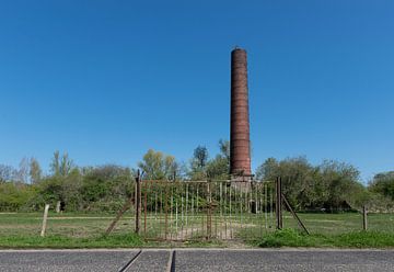
[[[394,248],[393,214],[370,214],[369,230],[361,231],[362,218],[358,213],[301,213],[299,216],[310,230],[310,236],[299,231],[296,220],[288,213],[283,218],[286,229],[281,231],[275,230],[275,220],[269,216],[265,222],[266,217],[263,214],[244,215],[242,218],[233,215],[233,226],[236,226],[233,229],[234,237],[237,238],[235,242],[220,239],[205,240],[201,229],[195,230],[196,239],[193,241],[148,242],[143,235],[140,237],[134,234],[132,212],[126,213],[107,237],[103,234],[115,214],[50,213],[46,237],[42,238],[39,236],[42,216],[42,213],[0,213],[0,248],[228,247],[240,243],[240,240],[254,247]],[[142,217],[141,228],[143,228],[143,219]],[[202,214],[189,217],[188,227],[201,227],[206,219],[206,215]],[[223,233],[222,220],[220,215],[213,216],[213,234]],[[159,227],[160,222],[161,227]],[[163,217],[148,216],[149,237],[147,238],[159,237],[160,234],[163,237]],[[229,222],[225,224],[229,226]],[[170,225],[169,234],[179,236],[174,226],[174,224]],[[177,231],[181,229],[179,222]]]

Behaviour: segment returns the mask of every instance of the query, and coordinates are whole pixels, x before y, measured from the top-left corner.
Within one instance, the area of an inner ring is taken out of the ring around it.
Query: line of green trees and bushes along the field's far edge
[[[174,156],[148,150],[138,163],[144,180],[230,179],[230,145],[219,141],[219,152],[197,146],[187,162]],[[134,195],[135,168],[116,165],[79,167],[68,154],[56,151],[49,172],[35,158],[22,159],[18,169],[0,165],[0,211],[40,211],[45,203],[61,202],[66,211],[111,212]],[[375,174],[368,185],[359,170],[346,162],[324,160],[314,166],[305,157],[268,158],[255,171],[257,181],[281,177],[283,193],[297,211],[337,212],[359,209],[392,211],[394,171]]]

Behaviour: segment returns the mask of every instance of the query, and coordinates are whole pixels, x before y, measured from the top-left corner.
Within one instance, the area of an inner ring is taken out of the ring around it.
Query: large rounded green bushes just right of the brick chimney
[[[314,167],[305,157],[281,161],[269,158],[256,171],[257,179],[275,180],[277,177],[282,179],[286,197],[299,211],[346,209],[350,204],[361,205],[361,199],[366,197],[358,182],[359,171],[344,162],[325,160]]]

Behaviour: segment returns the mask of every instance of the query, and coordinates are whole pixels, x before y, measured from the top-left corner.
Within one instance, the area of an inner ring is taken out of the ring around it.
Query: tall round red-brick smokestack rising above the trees
[[[231,52],[230,173],[251,175],[246,50]]]

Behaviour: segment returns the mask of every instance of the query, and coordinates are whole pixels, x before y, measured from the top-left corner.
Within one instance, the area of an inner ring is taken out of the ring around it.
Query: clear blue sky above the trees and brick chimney
[[[268,157],[394,170],[394,1],[1,1],[0,163],[136,167],[229,138],[246,48],[253,169]]]

